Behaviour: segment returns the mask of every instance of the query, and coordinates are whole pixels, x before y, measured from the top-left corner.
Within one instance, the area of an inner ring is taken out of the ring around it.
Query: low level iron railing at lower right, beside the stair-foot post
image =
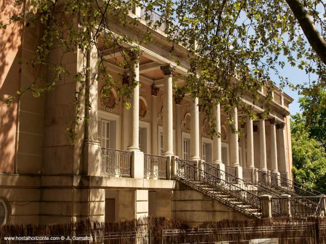
[[[273,197],[272,216],[324,217],[326,214],[324,212],[325,199],[325,197]]]

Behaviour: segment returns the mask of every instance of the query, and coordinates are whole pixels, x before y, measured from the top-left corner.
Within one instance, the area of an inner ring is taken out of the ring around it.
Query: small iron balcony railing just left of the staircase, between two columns
[[[167,178],[167,157],[144,154],[144,177]]]

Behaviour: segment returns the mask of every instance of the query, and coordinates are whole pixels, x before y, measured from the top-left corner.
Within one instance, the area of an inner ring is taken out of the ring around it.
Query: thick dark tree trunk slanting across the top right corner
[[[316,26],[311,21],[309,14],[307,13],[301,0],[286,0],[287,4],[291,8],[295,18],[299,22],[303,32],[305,33],[308,42],[315,50],[317,55],[326,64],[326,42],[319,34]]]

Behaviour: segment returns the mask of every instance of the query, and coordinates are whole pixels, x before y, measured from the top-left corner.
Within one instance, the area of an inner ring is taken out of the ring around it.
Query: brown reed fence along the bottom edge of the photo
[[[259,221],[207,222],[189,228],[166,218],[118,223],[79,222],[47,226],[10,225],[0,228],[0,243],[326,243],[326,219],[274,218]],[[57,240],[5,240],[5,237],[58,237]],[[64,237],[65,239],[61,239]],[[77,239],[73,239],[77,237]],[[80,238],[87,237],[87,240]],[[79,239],[78,239],[79,238]],[[260,239],[261,242],[259,242]],[[278,242],[266,242],[277,239]],[[257,240],[256,242],[252,242]]]

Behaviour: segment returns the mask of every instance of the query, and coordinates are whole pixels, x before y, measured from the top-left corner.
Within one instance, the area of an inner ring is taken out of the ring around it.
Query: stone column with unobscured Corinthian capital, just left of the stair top
[[[161,66],[164,75],[164,100],[163,100],[163,154],[173,155],[173,95],[171,65]]]

